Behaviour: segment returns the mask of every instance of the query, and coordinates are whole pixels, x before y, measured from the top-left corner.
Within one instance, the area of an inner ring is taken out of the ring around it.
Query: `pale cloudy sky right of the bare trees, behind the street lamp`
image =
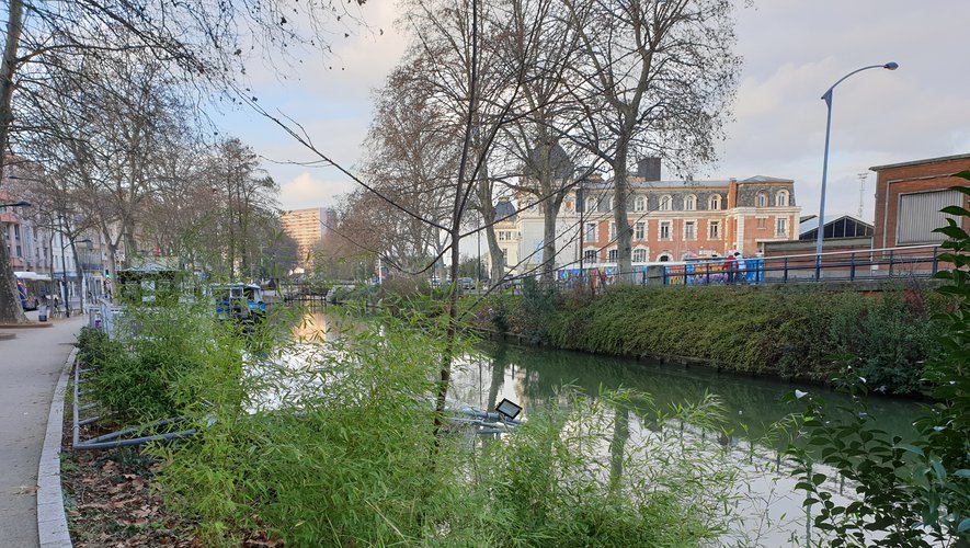
[[[849,71],[890,60],[899,70],[867,71],[835,90],[826,212],[858,209],[858,173],[871,165],[970,152],[970,57],[958,38],[968,18],[965,0],[771,0],[739,10],[744,77],[712,171],[794,179],[803,214],[817,214],[825,137],[819,98]],[[875,179],[864,195],[870,219]]]

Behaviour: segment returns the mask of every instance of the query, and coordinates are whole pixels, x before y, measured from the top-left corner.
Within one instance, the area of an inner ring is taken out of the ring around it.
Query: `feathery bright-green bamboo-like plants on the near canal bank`
[[[566,387],[514,435],[457,425],[436,435],[446,339],[435,320],[354,320],[333,328],[352,338],[326,346],[253,352],[184,305],[135,319],[137,335],[119,342],[85,331],[82,359],[118,420],[181,414],[199,429],[141,455],[202,544],[696,546],[733,520],[728,456],[664,426],[717,430],[712,397],[667,409],[643,393]],[[654,434],[629,435],[631,421]]]

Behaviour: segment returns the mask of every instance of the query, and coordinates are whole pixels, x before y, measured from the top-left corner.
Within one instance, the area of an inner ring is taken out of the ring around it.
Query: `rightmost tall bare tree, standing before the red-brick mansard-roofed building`
[[[613,171],[617,261],[631,272],[628,169],[658,156],[715,159],[740,66],[730,0],[566,0],[585,54],[583,115],[570,137]],[[629,282],[626,276],[618,279]]]

